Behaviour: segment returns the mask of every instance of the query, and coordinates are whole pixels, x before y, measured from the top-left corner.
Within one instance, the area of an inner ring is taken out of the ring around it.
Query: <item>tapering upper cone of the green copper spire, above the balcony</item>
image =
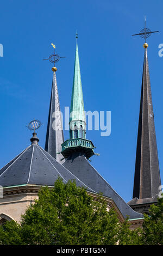
[[[76,34],[76,38],[78,38],[78,34]],[[81,123],[80,125],[82,125],[83,129],[85,130],[85,113],[84,113],[82,80],[80,75],[78,42],[76,46],[76,57],[75,57],[75,63],[74,63],[74,76],[73,76],[73,88],[72,88],[70,113],[71,113],[70,126],[72,127],[72,129],[74,125],[78,126],[79,123]]]

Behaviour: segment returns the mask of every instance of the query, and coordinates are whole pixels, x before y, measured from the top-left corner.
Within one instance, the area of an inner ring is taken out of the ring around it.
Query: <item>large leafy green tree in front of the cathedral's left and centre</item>
[[[39,199],[22,215],[20,224],[0,227],[1,245],[121,245],[135,244],[136,231],[121,224],[114,209],[106,211],[101,195],[94,200],[75,181],[58,179],[43,187]]]

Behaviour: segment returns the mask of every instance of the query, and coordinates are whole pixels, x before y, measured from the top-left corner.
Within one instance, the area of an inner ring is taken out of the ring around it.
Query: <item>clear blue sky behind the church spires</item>
[[[144,50],[143,39],[131,34],[143,28],[146,15],[147,27],[160,31],[148,39],[148,62],[163,180],[162,9],[161,0],[1,2],[0,168],[30,144],[26,125],[33,118],[43,123],[37,135],[45,146],[52,65],[42,59],[52,53],[51,42],[66,56],[57,64],[57,82],[61,109],[70,106],[78,29],[85,110],[111,111],[109,137],[87,132],[101,154],[92,165],[126,202],[132,198]]]

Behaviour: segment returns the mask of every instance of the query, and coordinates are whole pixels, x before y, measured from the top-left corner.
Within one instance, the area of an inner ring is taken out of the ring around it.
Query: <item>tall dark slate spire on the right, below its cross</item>
[[[151,84],[147,58],[147,44],[144,44],[139,128],[137,135],[136,163],[133,198],[152,198],[159,193],[160,170],[156,145]]]

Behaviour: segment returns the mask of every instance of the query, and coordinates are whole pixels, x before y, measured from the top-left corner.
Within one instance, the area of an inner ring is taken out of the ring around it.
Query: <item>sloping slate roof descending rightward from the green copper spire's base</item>
[[[90,187],[97,193],[102,192],[104,196],[112,198],[121,211],[124,218],[129,216],[130,219],[142,218],[143,215],[135,212],[117,192],[104,180],[95,168],[87,161],[82,153],[72,153],[70,157],[63,163],[72,174],[77,176],[86,186]]]

